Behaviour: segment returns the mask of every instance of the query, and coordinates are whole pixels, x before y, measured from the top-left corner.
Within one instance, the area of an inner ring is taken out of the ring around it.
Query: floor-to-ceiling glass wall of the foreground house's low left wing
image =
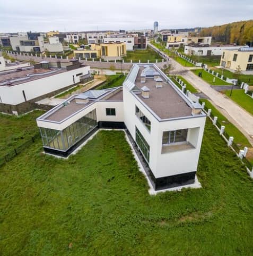
[[[62,131],[40,127],[43,146],[67,151],[95,127],[97,127],[95,109]]]

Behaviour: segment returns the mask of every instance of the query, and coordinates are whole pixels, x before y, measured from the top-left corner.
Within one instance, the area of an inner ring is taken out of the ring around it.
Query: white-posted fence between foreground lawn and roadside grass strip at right
[[[248,148],[244,147],[243,150],[240,150],[240,148],[235,144],[234,137],[230,136],[225,131],[225,126],[221,125],[221,123],[218,121],[218,118],[213,116],[212,109],[207,109],[205,107],[205,102],[202,103],[203,111],[207,114],[207,117],[212,121],[213,125],[216,127],[216,129],[219,131],[220,136],[224,139],[224,141],[227,143],[228,147],[230,147],[233,152],[238,156],[238,158],[241,160],[243,164],[245,164],[246,170],[251,178],[253,178],[253,166],[252,164],[246,159],[246,155],[248,152]]]

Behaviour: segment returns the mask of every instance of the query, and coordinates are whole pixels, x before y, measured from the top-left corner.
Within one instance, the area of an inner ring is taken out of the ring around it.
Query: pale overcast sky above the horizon
[[[253,0],[1,0],[0,32],[209,27],[253,19]]]

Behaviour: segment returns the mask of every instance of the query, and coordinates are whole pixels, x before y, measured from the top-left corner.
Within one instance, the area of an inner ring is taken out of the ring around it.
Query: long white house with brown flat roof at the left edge
[[[73,64],[42,61],[31,67],[0,72],[0,112],[28,112],[34,108],[34,102],[73,86],[82,76],[90,76],[89,66],[71,61]]]

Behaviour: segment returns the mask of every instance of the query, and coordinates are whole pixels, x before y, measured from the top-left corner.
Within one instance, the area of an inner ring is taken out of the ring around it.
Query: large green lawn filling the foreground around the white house
[[[2,256],[252,255],[252,180],[209,120],[201,189],[150,196],[123,131],[68,160],[41,150],[0,169]]]

